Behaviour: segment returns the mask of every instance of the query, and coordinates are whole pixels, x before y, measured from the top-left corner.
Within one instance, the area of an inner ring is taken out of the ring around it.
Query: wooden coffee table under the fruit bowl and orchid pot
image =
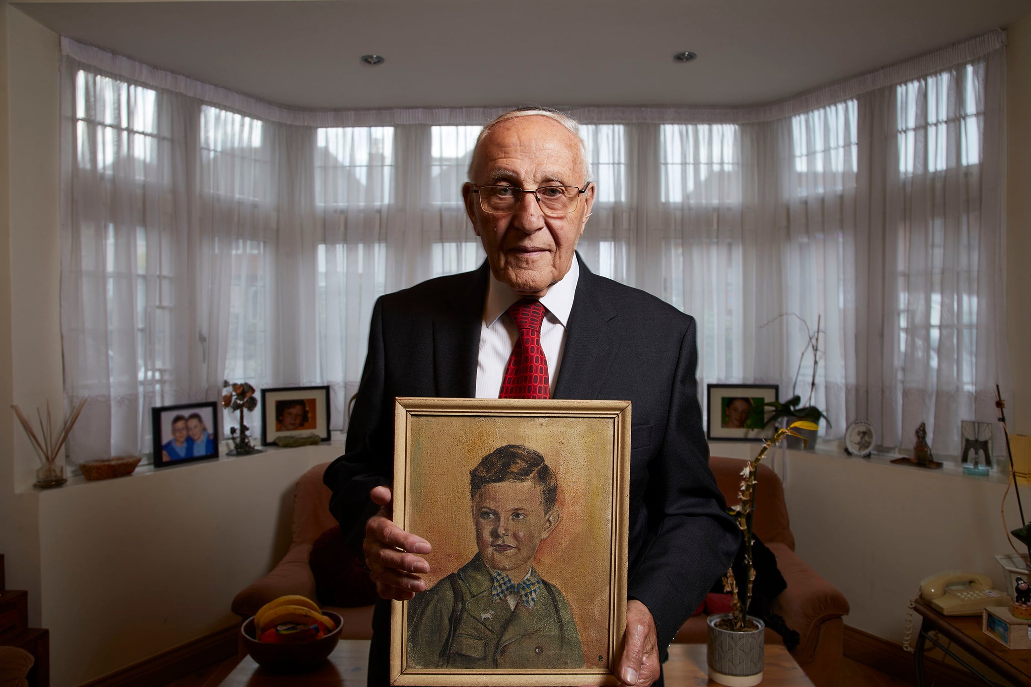
[[[286,687],[309,685],[329,687],[365,687],[365,665],[369,658],[366,640],[342,640],[329,657],[329,662],[313,673],[274,675],[262,669],[250,656],[243,658],[222,682],[223,687]],[[763,656],[763,687],[812,687],[795,659],[784,645],[766,645]],[[714,685],[708,679],[704,644],[674,644],[669,648],[669,661],[663,666],[668,687],[701,687]]]

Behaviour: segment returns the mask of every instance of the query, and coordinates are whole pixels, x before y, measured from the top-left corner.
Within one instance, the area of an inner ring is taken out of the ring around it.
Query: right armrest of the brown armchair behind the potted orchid
[[[849,602],[786,544],[771,542],[767,546],[788,583],[788,588],[773,599],[771,610],[799,633],[801,639],[794,653],[798,662],[804,663],[817,650],[821,623],[847,615]]]

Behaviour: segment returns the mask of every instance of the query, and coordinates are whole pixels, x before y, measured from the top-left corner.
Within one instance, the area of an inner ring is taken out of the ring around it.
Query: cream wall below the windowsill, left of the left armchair
[[[76,685],[233,624],[229,606],[290,544],[293,487],[339,443],[275,450],[39,496],[54,685]]]

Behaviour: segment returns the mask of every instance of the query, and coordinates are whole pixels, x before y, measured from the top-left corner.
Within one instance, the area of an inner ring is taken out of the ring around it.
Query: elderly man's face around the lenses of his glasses
[[[583,188],[584,159],[576,135],[539,115],[507,119],[480,142],[472,165],[472,183],[462,187],[466,212],[484,244],[491,271],[523,296],[543,296],[572,265],[576,242],[594,205],[594,184],[576,209],[546,216],[532,194],[510,214],[485,212],[473,187],[509,184],[534,190],[548,184]]]

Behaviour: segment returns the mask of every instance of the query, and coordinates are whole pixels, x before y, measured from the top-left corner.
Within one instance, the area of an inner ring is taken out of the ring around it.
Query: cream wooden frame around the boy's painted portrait
[[[413,529],[412,474],[418,472],[412,455],[412,446],[419,441],[419,434],[433,428],[434,424],[455,423],[455,418],[468,418],[470,433],[474,423],[484,420],[496,421],[509,428],[497,430],[497,445],[516,443],[505,439],[511,434],[510,427],[520,426],[520,420],[537,422],[541,427],[548,424],[555,432],[555,421],[562,423],[558,428],[564,437],[579,442],[583,432],[592,425],[606,427],[610,438],[610,455],[596,459],[598,467],[604,467],[604,474],[591,475],[591,479],[605,480],[608,488],[607,533],[608,549],[608,603],[605,648],[607,660],[604,665],[583,668],[548,669],[457,669],[409,667],[407,660],[407,604],[391,603],[391,684],[399,686],[423,685],[425,687],[486,685],[527,685],[528,687],[564,687],[570,685],[618,685],[614,669],[623,650],[623,633],[626,627],[627,607],[627,555],[630,500],[630,403],[627,401],[525,401],[525,400],[479,400],[479,399],[415,399],[398,398],[395,405],[394,421],[394,522],[405,530]],[[457,421],[458,426],[464,423]],[[518,434],[518,433],[517,433]],[[600,437],[600,434],[599,434]],[[481,455],[476,456],[478,460]],[[545,459],[547,457],[545,456]],[[468,460],[467,460],[468,461]],[[464,467],[464,466],[463,466]],[[599,469],[600,473],[601,470]],[[588,478],[584,478],[585,480]],[[466,480],[466,489],[468,481]],[[562,489],[560,478],[560,489]],[[466,492],[466,496],[468,493]],[[463,504],[462,508],[465,508]],[[599,509],[600,510],[600,509]],[[432,542],[431,542],[432,544]],[[536,564],[536,562],[535,562]],[[566,592],[568,595],[568,591]],[[575,609],[574,609],[575,615]],[[583,634],[583,632],[581,632]]]

